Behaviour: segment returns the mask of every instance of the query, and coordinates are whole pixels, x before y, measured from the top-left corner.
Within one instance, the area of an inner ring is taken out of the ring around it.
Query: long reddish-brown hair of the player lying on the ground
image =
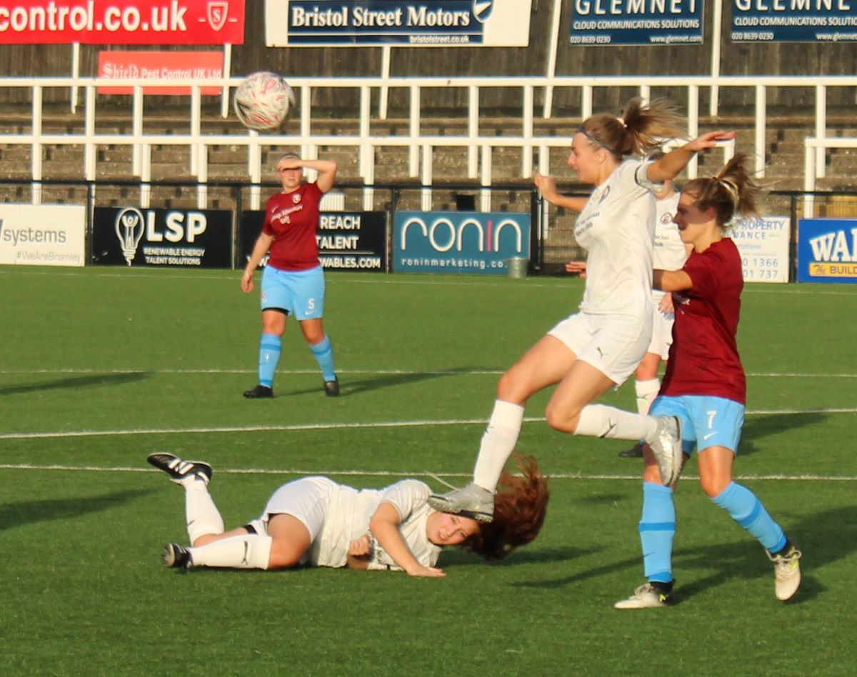
[[[494,496],[494,520],[481,524],[462,547],[486,560],[502,560],[519,546],[532,541],[542,529],[548,510],[548,478],[536,459],[515,453],[520,475],[503,471]]]

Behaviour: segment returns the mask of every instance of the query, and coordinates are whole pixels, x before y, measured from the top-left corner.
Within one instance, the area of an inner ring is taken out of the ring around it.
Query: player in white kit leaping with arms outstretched
[[[548,386],[558,384],[545,412],[552,428],[568,434],[618,436],[611,421],[618,410],[590,403],[621,385],[649,347],[652,191],[674,179],[695,153],[734,136],[710,132],[661,159],[642,159],[662,146],[663,137],[680,134],[680,119],[670,106],[644,105],[641,99],[632,99],[620,117],[596,115],[578,128],[568,165],[581,183],[595,187],[574,229],[578,243],[588,250],[583,302],[578,313],[560,321],[503,374],[473,482],[447,494],[432,494],[430,506],[444,512],[467,511],[487,522],[493,518],[494,488],[517,444],[524,405]],[[536,177],[536,186],[554,204],[578,200],[558,195],[549,177]],[[671,452],[680,446],[679,423],[668,416],[643,419],[635,427],[623,427],[621,434],[621,439],[644,439],[663,447],[664,455],[667,448]]]

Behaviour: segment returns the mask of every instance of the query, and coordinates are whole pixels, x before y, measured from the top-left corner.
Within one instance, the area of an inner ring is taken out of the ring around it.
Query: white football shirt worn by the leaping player
[[[591,315],[651,314],[655,196],[650,162],[626,159],[592,191],[574,236],[589,254],[580,310]]]

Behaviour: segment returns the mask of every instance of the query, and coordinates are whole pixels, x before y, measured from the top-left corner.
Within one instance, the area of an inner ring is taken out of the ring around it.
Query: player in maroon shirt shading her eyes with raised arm
[[[318,172],[314,183],[303,182],[303,169]],[[265,224],[244,268],[241,288],[253,291],[253,273],[268,255],[262,273],[262,336],[259,347],[259,384],[244,392],[245,398],[273,397],[273,377],[279,362],[285,320],[292,315],[301,327],[324,377],[325,394],[339,395],[339,379],[333,367],[333,345],[322,324],[325,279],[319,262],[315,233],[319,225],[321,196],[333,188],[336,163],[304,160],[286,153],[277,162],[283,191],[272,195],[265,207]]]

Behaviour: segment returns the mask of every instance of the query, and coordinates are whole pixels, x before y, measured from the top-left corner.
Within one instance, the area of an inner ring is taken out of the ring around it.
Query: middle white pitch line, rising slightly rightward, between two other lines
[[[770,416],[798,414],[857,414],[855,407],[831,407],[827,409],[758,409],[746,411],[746,416]],[[543,416],[526,416],[524,422],[544,421]],[[3,433],[0,440],[43,440],[69,437],[111,437],[124,435],[146,434],[210,434],[210,433],[253,433],[276,431],[303,430],[345,430],[357,428],[422,428],[428,426],[448,425],[484,425],[485,418],[452,418],[441,420],[417,421],[374,421],[374,422],[329,422],[329,423],[296,423],[292,425],[258,425],[258,426],[222,426],[218,428],[130,428],[124,430],[59,430],[43,433]]]

